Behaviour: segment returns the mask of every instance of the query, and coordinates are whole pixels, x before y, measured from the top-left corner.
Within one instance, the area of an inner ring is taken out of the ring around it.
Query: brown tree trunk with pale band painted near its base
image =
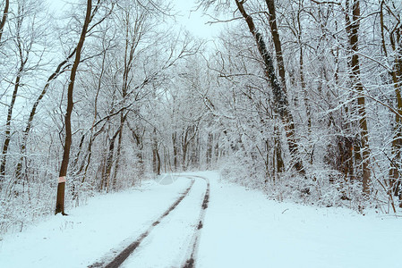
[[[70,159],[70,148],[72,145],[72,127],[71,127],[71,115],[73,112],[73,89],[75,76],[77,74],[78,65],[81,59],[82,46],[87,35],[88,25],[90,24],[90,14],[92,9],[92,1],[87,0],[87,13],[85,15],[85,21],[82,26],[80,40],[77,44],[77,51],[75,53],[75,59],[73,68],[70,74],[70,83],[67,89],[67,111],[65,113],[64,127],[65,127],[65,139],[64,139],[64,153],[63,160],[60,166],[59,181],[57,185],[57,197],[56,197],[56,211],[55,214],[64,214],[64,188],[65,188],[65,176],[67,175],[68,162]]]

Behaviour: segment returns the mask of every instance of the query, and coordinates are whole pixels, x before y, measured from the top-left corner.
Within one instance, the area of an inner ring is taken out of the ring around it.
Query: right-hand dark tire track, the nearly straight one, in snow
[[[193,268],[195,267],[195,261],[197,258],[197,252],[199,247],[199,241],[201,237],[201,230],[204,224],[205,214],[207,212],[208,204],[210,202],[210,180],[201,176],[191,176],[192,178],[201,178],[207,182],[207,189],[205,190],[204,198],[202,200],[201,212],[199,217],[199,223],[194,230],[194,234],[192,235],[192,242],[189,253],[187,254],[187,259],[185,264],[182,265],[183,268]]]

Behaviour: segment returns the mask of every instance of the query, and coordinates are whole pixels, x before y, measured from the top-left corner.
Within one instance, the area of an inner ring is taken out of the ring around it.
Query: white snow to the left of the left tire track
[[[141,234],[189,185],[144,183],[123,193],[94,197],[0,242],[0,267],[86,267]],[[123,243],[124,244],[124,243]]]

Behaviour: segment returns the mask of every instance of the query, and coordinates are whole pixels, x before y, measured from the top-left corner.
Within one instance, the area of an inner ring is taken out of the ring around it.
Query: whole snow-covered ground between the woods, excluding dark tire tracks
[[[194,174],[194,173],[193,173]],[[263,193],[210,179],[196,267],[402,267],[402,220],[338,208],[278,203]],[[173,181],[173,180],[172,180]],[[87,267],[132,243],[191,184],[143,183],[93,197],[69,216],[0,241],[0,267]],[[206,181],[195,178],[187,197],[155,226],[122,266],[176,267],[191,250]]]

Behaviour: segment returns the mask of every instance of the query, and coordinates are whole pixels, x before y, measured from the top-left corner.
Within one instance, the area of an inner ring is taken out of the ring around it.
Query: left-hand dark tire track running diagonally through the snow
[[[191,178],[189,178],[189,179],[191,179]],[[180,202],[182,202],[184,197],[186,197],[188,195],[188,193],[190,192],[190,189],[192,188],[192,185],[194,184],[194,181],[195,180],[192,179],[190,186],[185,189],[184,193],[180,197],[177,198],[175,203],[170,205],[167,208],[167,211],[164,214],[160,215],[155,222],[152,222],[150,227],[147,230],[145,230],[143,233],[141,233],[141,235],[135,241],[133,241],[128,247],[125,247],[124,250],[122,250],[118,255],[115,255],[116,252],[113,251],[115,257],[113,258],[112,261],[110,261],[110,262],[109,262],[109,260],[99,261],[99,262],[96,262],[95,264],[90,264],[90,266],[88,266],[88,267],[89,268],[97,268],[97,267],[115,268],[115,267],[119,267],[121,264],[123,264],[125,259],[127,259],[127,257],[133,253],[135,248],[140,246],[141,241],[150,234],[150,231],[153,230],[155,228],[155,226],[157,226],[160,223],[160,221],[163,220],[163,218],[165,218],[168,214],[170,214],[175,209],[175,207],[177,205],[179,205]],[[107,259],[110,259],[110,258],[107,258]],[[107,262],[109,262],[109,263],[106,264]]]

